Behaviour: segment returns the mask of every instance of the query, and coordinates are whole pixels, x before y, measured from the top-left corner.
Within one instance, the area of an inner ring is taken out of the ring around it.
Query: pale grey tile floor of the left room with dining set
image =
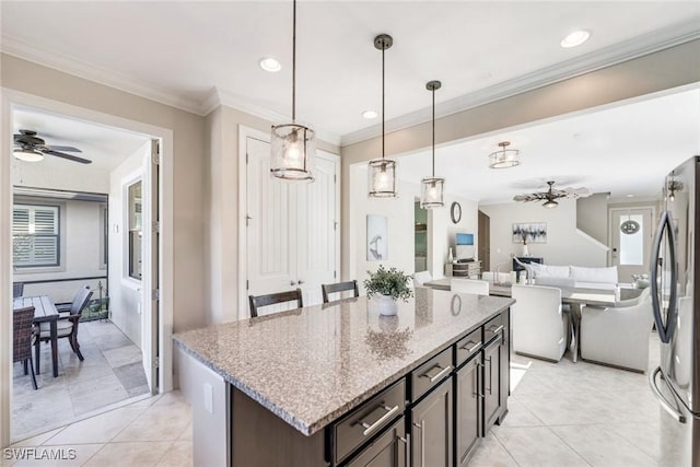
[[[58,377],[51,373],[51,349],[42,343],[38,390],[21,363],[13,365],[13,439],[66,425],[115,402],[148,394],[141,351],[115,325],[81,323],[78,340],[85,360],[73,353],[68,339],[58,341]]]

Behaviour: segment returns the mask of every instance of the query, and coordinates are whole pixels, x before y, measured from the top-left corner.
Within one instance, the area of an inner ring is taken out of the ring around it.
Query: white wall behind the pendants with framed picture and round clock
[[[400,170],[400,167],[399,167]],[[400,180],[398,198],[368,198],[366,164],[350,166],[350,231],[351,255],[350,277],[360,283],[366,279],[368,270],[376,270],[380,265],[395,267],[405,273],[415,272],[415,202],[420,198],[420,186]],[[453,224],[450,219],[450,206],[453,201],[462,206],[462,220]],[[388,259],[385,261],[366,260],[366,217],[386,215],[388,221]],[[455,233],[474,233],[475,253],[477,237],[477,202],[454,196],[445,197],[445,208],[428,212],[428,270],[434,278],[444,276],[448,247],[454,247]],[[361,287],[361,292],[364,293]]]

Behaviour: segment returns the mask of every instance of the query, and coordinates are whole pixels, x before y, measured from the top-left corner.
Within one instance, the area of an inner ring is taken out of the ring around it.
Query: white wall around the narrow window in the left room
[[[128,198],[126,185],[143,177],[151,142],[139,148],[109,176],[109,316],[141,348],[141,281],[128,273]]]

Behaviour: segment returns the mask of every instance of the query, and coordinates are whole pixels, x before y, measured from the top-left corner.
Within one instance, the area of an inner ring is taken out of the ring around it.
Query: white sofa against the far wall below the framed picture
[[[586,268],[533,262],[527,265],[527,269],[538,285],[615,290],[618,282],[617,266]]]

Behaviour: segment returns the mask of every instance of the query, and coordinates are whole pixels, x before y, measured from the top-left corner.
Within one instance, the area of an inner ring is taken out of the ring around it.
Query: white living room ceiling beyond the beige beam
[[[555,180],[555,188],[585,187],[633,201],[658,195],[668,172],[700,155],[699,129],[700,87],[695,86],[438,147],[435,173],[446,176],[448,192],[480,205],[545,190],[547,180]],[[489,168],[488,154],[504,140],[521,151],[522,164]],[[430,174],[430,148],[400,157],[400,178],[420,183]]]

